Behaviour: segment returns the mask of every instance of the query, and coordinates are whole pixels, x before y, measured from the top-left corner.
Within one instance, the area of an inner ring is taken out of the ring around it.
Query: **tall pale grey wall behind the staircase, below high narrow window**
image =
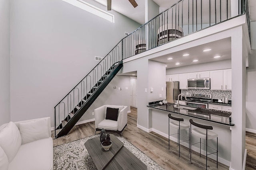
[[[111,23],[62,0],[10,2],[12,121],[50,116],[53,126],[54,106],[98,63],[94,56],[105,57],[124,31],[140,26],[115,11]]]

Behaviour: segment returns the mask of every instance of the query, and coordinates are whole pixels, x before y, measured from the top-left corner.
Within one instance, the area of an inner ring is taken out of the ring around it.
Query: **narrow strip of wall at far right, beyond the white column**
[[[249,67],[246,68],[246,131],[256,133],[256,21],[251,22],[252,53],[248,57]]]

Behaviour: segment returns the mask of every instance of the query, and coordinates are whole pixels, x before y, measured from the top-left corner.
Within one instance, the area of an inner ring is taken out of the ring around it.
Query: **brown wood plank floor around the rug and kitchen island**
[[[76,141],[94,135],[94,133],[94,121],[76,125],[65,137],[54,139],[54,146]],[[205,169],[204,156],[200,158],[197,152],[192,152],[192,161],[190,161],[188,148],[181,146],[179,157],[177,143],[170,141],[169,150],[168,139],[157,133],[147,133],[139,129],[137,127],[137,109],[134,107],[131,107],[131,113],[128,114],[128,129],[123,131],[122,136],[166,170]],[[52,137],[54,138],[54,131],[52,131]],[[246,133],[246,149],[246,170],[256,170],[256,134]],[[208,159],[208,169],[217,169],[215,160]],[[218,170],[228,169],[229,167],[221,163],[218,164]]]

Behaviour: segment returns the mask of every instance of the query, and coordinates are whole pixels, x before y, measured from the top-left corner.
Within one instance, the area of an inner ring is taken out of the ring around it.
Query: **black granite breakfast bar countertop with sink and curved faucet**
[[[188,117],[194,117],[206,121],[211,121],[223,125],[228,126],[234,126],[233,123],[226,123],[224,118],[231,119],[231,112],[228,111],[220,111],[220,110],[214,110],[214,109],[206,109],[202,107],[190,107],[190,106],[184,106],[180,105],[180,108],[177,108],[177,105],[174,103],[168,103],[166,105],[160,105],[158,102],[150,102],[150,105],[147,107],[153,108],[153,109],[159,109],[163,111],[168,111],[171,113],[176,113],[180,115],[186,115]],[[216,117],[222,117],[223,121],[216,121]]]

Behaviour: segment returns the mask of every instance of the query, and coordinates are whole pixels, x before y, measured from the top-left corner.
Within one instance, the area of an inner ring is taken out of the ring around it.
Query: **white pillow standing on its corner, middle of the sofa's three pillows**
[[[17,154],[20,145],[20,131],[18,127],[10,121],[10,123],[0,131],[0,146],[4,150],[9,162],[11,162]]]

